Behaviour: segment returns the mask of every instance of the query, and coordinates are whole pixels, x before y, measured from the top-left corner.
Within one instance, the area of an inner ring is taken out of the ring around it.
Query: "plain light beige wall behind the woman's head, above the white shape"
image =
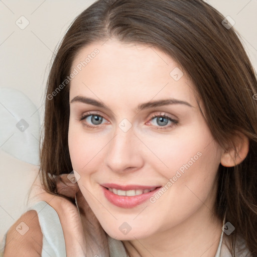
[[[52,53],[73,19],[95,1],[34,0],[0,2],[0,86],[22,90],[36,106],[42,105]],[[246,50],[257,68],[257,0],[206,1],[225,17],[243,37]],[[30,24],[21,30],[16,21]],[[41,112],[42,107],[39,111]]]

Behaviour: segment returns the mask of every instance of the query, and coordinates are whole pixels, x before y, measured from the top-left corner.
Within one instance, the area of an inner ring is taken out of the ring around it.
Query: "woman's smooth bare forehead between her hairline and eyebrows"
[[[180,97],[194,102],[194,86],[170,56],[158,48],[97,42],[81,49],[73,60],[70,98],[78,94],[109,100],[151,100]]]

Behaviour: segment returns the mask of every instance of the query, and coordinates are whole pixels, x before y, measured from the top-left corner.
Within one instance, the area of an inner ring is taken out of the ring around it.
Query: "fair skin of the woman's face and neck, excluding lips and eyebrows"
[[[222,221],[211,215],[217,169],[225,154],[200,113],[192,81],[185,72],[175,81],[170,72],[183,69],[159,49],[115,39],[84,47],[71,70],[96,48],[99,54],[70,84],[69,151],[83,196],[102,228],[122,240],[130,256],[214,256]],[[101,101],[109,109],[71,102],[78,95]],[[192,107],[171,104],[136,110],[141,103],[167,98]],[[103,117],[102,123],[92,123],[91,116],[79,120],[89,111]],[[178,124],[160,125],[151,117],[160,113]],[[127,132],[118,126],[124,118],[132,124]],[[201,157],[155,203],[117,207],[100,187],[103,183],[164,187],[198,152]],[[126,235],[119,230],[123,222],[132,228]]]

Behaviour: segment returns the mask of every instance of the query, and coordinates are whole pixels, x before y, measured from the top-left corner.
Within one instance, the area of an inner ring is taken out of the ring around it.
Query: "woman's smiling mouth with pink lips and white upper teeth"
[[[121,208],[133,208],[147,201],[161,186],[141,186],[117,184],[101,185],[106,199]]]

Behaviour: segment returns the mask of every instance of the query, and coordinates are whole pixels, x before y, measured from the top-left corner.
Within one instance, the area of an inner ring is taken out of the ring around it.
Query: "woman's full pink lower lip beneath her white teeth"
[[[123,196],[123,195],[116,195],[113,194],[111,191],[109,191],[107,188],[103,187],[103,192],[107,200],[121,208],[133,208],[135,206],[140,205],[141,203],[148,200],[152,195],[154,195],[160,187],[156,188],[155,190],[141,194],[141,195],[135,195],[135,196]]]

